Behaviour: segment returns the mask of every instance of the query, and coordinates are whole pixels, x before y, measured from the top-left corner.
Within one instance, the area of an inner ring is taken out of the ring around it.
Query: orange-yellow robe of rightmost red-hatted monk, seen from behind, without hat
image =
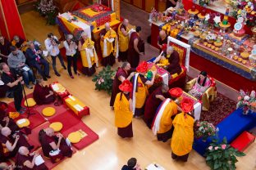
[[[189,154],[194,141],[194,119],[182,112],[176,115],[173,120],[173,126],[171,151],[178,156]]]

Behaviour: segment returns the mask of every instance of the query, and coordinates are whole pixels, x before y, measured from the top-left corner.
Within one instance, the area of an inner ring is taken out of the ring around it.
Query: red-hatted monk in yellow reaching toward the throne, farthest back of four
[[[145,74],[148,72],[148,63],[143,61],[137,67],[137,74],[132,79],[133,82],[133,113],[135,117],[142,116],[144,114],[144,104],[147,96],[149,95],[148,87],[153,85],[155,75],[157,71],[153,71],[153,78],[148,80],[145,78]]]

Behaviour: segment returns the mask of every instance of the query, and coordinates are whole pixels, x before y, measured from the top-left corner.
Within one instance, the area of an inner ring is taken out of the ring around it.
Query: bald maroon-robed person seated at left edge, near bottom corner
[[[27,141],[27,136],[25,136],[24,133],[20,131],[11,135],[11,129],[8,127],[1,129],[0,144],[2,145],[0,155],[3,155],[6,159],[15,156],[21,146],[25,146],[29,148],[29,150],[34,148],[34,146],[30,145]]]

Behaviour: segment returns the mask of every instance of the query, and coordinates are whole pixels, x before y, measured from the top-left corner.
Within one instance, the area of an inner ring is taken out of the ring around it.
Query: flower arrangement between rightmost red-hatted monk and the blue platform
[[[207,121],[196,123],[196,127],[198,129],[195,132],[195,136],[202,137],[203,141],[209,136],[216,136],[216,133],[218,132],[218,128],[216,128],[213,123],[208,123]]]

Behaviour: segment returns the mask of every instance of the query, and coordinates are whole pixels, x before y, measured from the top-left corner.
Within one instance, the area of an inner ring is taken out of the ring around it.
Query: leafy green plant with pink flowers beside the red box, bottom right
[[[206,163],[211,169],[235,169],[235,163],[238,162],[236,157],[245,156],[243,152],[235,150],[231,145],[227,145],[226,137],[222,143],[217,140],[210,144],[206,151]]]

